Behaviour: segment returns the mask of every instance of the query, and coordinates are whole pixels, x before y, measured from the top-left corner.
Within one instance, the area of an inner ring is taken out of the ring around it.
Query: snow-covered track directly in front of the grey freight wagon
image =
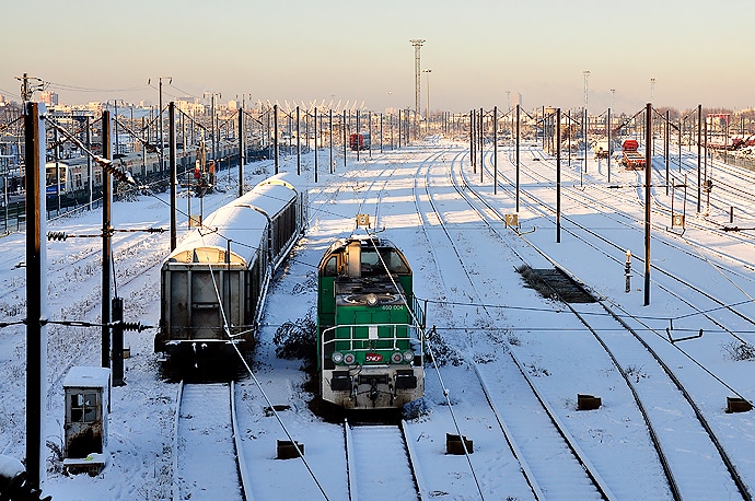
[[[233,383],[182,384],[178,403],[173,500],[245,500]]]

